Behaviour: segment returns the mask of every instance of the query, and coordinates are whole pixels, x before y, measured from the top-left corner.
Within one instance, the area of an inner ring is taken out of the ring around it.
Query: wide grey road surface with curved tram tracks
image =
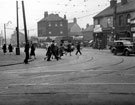
[[[7,65],[0,66],[1,104],[134,104],[135,56],[83,48],[83,55],[73,52],[72,56],[47,62],[44,52],[37,49],[37,59],[29,65],[20,59],[14,65],[3,61]]]

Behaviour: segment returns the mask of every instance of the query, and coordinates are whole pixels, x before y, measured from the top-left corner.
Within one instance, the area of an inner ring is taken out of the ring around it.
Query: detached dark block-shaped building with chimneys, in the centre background
[[[38,37],[59,37],[68,35],[68,22],[66,16],[44,13],[44,18],[38,23]]]

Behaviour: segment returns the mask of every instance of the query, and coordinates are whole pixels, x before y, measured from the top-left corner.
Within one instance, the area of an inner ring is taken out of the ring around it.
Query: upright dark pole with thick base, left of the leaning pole
[[[20,55],[19,48],[19,21],[18,21],[18,1],[16,1],[16,18],[17,18],[17,27],[16,27],[16,35],[17,35],[17,47],[16,47],[16,55]]]

